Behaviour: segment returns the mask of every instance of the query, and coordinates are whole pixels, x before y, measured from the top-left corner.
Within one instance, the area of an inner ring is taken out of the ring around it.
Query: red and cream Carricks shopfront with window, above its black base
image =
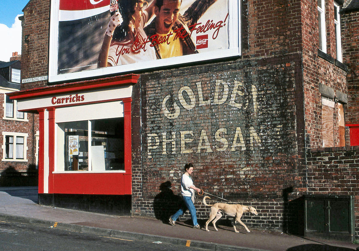
[[[39,114],[39,194],[131,195],[131,96],[139,75],[17,91]]]

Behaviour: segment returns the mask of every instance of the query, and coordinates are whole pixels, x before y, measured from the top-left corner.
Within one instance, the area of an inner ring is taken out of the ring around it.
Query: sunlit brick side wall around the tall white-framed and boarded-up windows
[[[326,3],[327,55],[336,58],[336,43],[334,33],[333,1]],[[306,125],[306,146],[308,148],[322,147],[322,112],[319,84],[332,87],[347,93],[346,72],[318,56],[318,21],[317,2],[307,1],[302,8],[302,38],[303,38],[303,90],[304,117]],[[337,106],[334,110],[334,146],[339,144],[337,130]]]

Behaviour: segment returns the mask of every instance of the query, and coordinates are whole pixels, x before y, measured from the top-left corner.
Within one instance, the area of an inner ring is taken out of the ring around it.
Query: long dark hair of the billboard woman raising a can
[[[123,22],[121,25],[118,25],[113,32],[112,39],[122,41],[125,39],[127,33],[129,32],[129,25],[132,18],[132,15],[135,13],[135,7],[139,0],[117,0],[118,11],[122,15]]]

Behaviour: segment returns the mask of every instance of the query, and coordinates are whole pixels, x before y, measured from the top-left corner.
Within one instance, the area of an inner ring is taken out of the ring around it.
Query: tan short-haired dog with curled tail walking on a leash
[[[244,228],[246,228],[247,232],[251,232],[251,231],[249,231],[247,226],[241,221],[241,217],[244,212],[250,212],[252,214],[258,215],[257,210],[254,207],[251,207],[251,206],[247,207],[247,206],[243,206],[241,204],[227,204],[227,203],[215,203],[213,205],[209,205],[206,203],[206,198],[210,199],[209,196],[204,196],[204,198],[202,200],[203,204],[205,204],[206,206],[209,206],[209,207],[211,206],[211,208],[209,209],[209,219],[206,222],[206,231],[207,232],[209,232],[208,224],[211,221],[213,221],[214,229],[216,229],[216,231],[218,231],[218,229],[216,227],[216,221],[218,221],[219,218],[222,217],[222,212],[225,215],[234,217],[234,224],[233,224],[234,232],[236,232],[236,233],[239,232],[236,229],[237,221],[239,223],[241,223],[241,225]]]

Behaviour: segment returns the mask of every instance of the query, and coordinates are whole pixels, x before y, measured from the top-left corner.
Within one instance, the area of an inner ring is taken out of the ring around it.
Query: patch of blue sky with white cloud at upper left
[[[0,61],[9,62],[13,52],[21,54],[19,16],[29,0],[0,0]]]

